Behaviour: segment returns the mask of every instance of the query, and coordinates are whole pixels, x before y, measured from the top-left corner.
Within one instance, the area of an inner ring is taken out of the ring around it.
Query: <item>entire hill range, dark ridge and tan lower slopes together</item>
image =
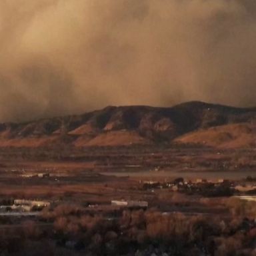
[[[214,147],[255,145],[256,108],[202,102],[174,107],[106,107],[26,123],[1,123],[0,147],[118,146],[196,143]]]

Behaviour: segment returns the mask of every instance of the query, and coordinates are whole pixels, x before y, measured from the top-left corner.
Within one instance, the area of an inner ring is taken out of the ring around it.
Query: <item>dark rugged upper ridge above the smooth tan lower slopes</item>
[[[133,132],[150,143],[170,143],[175,137],[199,129],[255,122],[255,107],[237,108],[199,101],[174,107],[109,106],[82,115],[1,123],[0,138],[6,141],[55,136],[65,143],[73,143],[79,137],[92,139],[109,131],[122,131]]]

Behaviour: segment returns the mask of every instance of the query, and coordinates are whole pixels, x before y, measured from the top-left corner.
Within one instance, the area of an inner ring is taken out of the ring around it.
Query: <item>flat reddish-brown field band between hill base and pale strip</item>
[[[0,171],[45,171],[76,175],[105,172],[255,171],[255,149],[210,147],[85,147],[0,149]]]

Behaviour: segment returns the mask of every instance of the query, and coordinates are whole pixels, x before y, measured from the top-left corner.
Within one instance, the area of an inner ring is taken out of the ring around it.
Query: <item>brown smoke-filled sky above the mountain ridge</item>
[[[256,105],[255,0],[1,0],[0,121]]]

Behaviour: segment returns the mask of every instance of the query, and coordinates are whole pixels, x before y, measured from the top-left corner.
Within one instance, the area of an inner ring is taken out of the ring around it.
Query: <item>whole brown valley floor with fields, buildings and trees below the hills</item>
[[[256,191],[254,149],[8,148],[0,159],[5,255],[254,255],[256,203],[242,200]]]

